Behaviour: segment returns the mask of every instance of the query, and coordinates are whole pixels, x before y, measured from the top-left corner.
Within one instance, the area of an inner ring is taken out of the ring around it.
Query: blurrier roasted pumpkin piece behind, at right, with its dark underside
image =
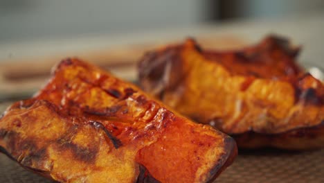
[[[324,85],[295,63],[299,48],[280,37],[240,51],[204,51],[194,40],[144,55],[146,92],[244,148],[324,145]],[[305,135],[302,135],[305,134]]]

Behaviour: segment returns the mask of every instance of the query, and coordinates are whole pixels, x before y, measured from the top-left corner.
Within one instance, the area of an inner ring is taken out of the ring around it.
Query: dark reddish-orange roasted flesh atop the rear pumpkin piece
[[[222,64],[232,74],[276,79],[296,77],[303,72],[295,63],[299,50],[284,38],[269,36],[240,51],[206,50],[202,54],[207,60]]]

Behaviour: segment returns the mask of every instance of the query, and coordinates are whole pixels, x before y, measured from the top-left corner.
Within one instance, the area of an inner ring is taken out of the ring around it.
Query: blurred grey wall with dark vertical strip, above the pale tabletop
[[[0,42],[134,33],[235,19],[280,19],[323,11],[321,0],[0,0]]]

